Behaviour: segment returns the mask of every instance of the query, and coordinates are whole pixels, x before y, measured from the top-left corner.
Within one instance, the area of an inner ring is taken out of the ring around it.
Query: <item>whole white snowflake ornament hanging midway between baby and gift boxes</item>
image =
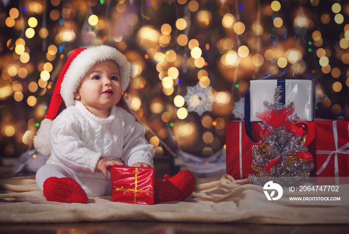
[[[188,111],[194,111],[201,116],[205,111],[212,111],[215,98],[211,86],[204,88],[197,82],[195,86],[186,87],[184,100],[188,105]]]

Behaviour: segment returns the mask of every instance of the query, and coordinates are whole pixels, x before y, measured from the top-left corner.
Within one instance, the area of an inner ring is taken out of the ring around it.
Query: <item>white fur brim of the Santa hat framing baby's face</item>
[[[81,80],[86,76],[90,69],[96,64],[106,60],[113,60],[118,64],[121,85],[123,92],[125,92],[130,82],[131,72],[131,64],[128,62],[125,55],[117,49],[106,45],[90,47],[76,56],[76,58],[70,63],[63,78],[60,94],[67,107],[74,105],[74,93],[76,93]]]

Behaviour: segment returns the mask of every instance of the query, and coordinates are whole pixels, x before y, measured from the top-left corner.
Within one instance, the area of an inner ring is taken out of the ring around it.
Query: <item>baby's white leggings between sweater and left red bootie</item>
[[[68,177],[75,180],[88,197],[99,197],[111,195],[110,179],[81,178],[71,172],[68,167],[58,164],[46,164],[36,172],[35,180],[37,186],[43,191],[43,183],[49,177]]]

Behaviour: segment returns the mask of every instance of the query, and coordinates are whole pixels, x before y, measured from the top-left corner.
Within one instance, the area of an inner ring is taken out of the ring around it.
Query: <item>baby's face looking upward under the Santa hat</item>
[[[74,97],[92,113],[110,110],[122,95],[119,66],[111,60],[96,64],[80,83]]]

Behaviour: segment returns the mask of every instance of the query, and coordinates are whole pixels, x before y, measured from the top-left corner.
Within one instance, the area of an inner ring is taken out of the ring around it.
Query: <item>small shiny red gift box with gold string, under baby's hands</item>
[[[154,205],[154,183],[153,167],[113,166],[112,201]]]

